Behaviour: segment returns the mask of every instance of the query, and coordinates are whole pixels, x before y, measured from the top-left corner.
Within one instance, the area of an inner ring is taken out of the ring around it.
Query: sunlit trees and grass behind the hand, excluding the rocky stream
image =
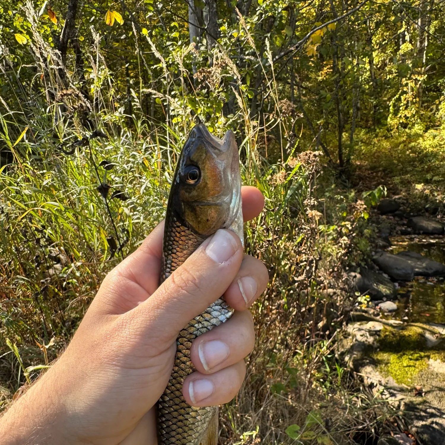
[[[63,351],[163,218],[191,127],[233,129],[271,284],[221,443],[373,443],[394,413],[335,354],[386,191],[441,203],[442,0],[0,5],[0,404]],[[336,292],[328,289],[335,288]],[[366,442],[371,438],[371,442]]]

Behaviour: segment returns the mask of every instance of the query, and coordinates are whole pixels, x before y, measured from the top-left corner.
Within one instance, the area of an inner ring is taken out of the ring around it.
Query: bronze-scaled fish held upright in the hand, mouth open
[[[221,140],[199,124],[182,148],[170,188],[161,283],[218,229],[234,231],[243,243],[238,146],[233,131]],[[232,314],[220,297],[179,332],[173,371],[156,405],[159,445],[216,445],[218,407],[188,405],[182,384],[195,371],[190,360],[193,340]]]

